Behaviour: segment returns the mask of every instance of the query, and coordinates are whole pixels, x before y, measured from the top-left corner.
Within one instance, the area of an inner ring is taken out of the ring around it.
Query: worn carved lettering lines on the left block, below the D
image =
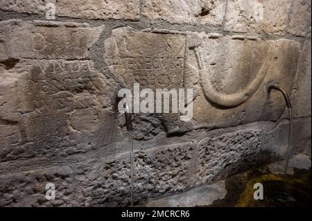
[[[89,60],[25,60],[18,70],[28,73],[25,94],[31,96],[26,101],[31,110],[86,108],[92,100],[99,100],[97,94],[107,94],[107,82]]]

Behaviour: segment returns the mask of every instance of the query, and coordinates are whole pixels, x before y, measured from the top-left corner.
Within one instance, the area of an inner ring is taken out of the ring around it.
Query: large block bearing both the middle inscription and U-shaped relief
[[[116,28],[104,56],[124,87],[193,89],[191,121],[158,116],[171,133],[276,121],[285,104],[278,91],[268,94],[267,85],[275,82],[290,94],[299,55],[299,42],[288,39]]]

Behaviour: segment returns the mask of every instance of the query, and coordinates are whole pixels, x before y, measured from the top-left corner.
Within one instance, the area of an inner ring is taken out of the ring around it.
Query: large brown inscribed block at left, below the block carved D
[[[107,109],[114,82],[103,78],[91,60],[19,60],[10,71],[16,86],[4,81],[1,93],[19,96],[12,99],[16,105],[1,107],[0,123],[15,125],[21,140],[1,142],[1,161],[67,156],[118,138],[114,114]],[[6,137],[1,135],[1,141]]]

